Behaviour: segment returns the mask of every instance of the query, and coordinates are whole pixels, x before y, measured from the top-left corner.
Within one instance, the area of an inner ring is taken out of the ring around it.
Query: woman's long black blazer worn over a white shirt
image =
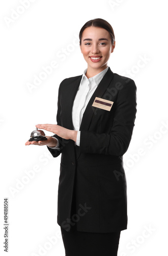
[[[72,105],[82,75],[64,79],[59,88],[57,123],[73,130]],[[92,106],[95,97],[113,101],[110,111]],[[80,146],[59,139],[62,153],[58,189],[58,224],[70,231],[114,232],[127,228],[126,178],[123,155],[128,149],[136,114],[132,79],[108,68],[93,93],[80,125]]]

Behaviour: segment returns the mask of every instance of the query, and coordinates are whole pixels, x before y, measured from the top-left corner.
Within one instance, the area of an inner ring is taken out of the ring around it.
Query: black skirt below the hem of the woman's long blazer
[[[120,233],[66,231],[61,227],[66,256],[117,256]]]

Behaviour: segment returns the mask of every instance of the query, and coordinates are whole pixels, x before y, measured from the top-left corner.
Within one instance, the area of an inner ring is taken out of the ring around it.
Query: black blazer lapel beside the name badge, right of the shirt
[[[81,120],[81,125],[80,125],[80,131],[81,130],[89,130],[89,126],[93,117],[93,114],[96,110],[94,106],[92,106],[93,101],[95,97],[102,98],[103,94],[107,90],[107,87],[109,86],[110,81],[113,79],[114,73],[108,68],[107,72],[103,76],[102,80],[98,84],[98,87],[96,88],[95,92],[93,93],[85,112],[83,113],[83,117]]]

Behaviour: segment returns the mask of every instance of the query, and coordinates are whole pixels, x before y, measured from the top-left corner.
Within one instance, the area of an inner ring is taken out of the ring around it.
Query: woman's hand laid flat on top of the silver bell
[[[38,129],[43,129],[48,132],[57,134],[59,137],[66,140],[74,140],[76,142],[77,131],[66,129],[58,124],[36,124]]]

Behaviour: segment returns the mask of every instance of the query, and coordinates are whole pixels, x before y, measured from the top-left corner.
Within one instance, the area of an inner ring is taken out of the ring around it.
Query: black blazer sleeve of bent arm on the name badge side
[[[136,116],[136,86],[125,83],[116,99],[116,110],[110,133],[80,132],[80,153],[123,156],[128,149]]]

